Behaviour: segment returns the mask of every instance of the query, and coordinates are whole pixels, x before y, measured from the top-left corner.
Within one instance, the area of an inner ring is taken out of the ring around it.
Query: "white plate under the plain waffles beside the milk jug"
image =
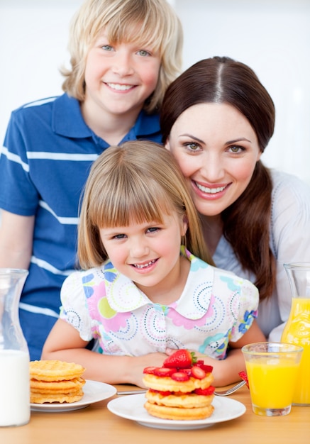
[[[31,410],[59,412],[84,409],[85,407],[89,406],[89,404],[111,398],[111,396],[116,394],[116,388],[113,387],[113,385],[104,384],[104,382],[87,380],[83,387],[83,392],[84,396],[80,401],[72,403],[53,402],[50,404],[31,404]]]

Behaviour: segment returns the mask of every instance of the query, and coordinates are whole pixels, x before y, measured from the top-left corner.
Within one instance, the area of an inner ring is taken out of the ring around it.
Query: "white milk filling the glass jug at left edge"
[[[0,426],[22,426],[29,420],[29,355],[0,350]]]

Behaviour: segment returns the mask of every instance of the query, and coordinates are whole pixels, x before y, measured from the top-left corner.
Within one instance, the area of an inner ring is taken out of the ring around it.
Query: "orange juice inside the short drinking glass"
[[[257,357],[245,362],[252,404],[284,409],[292,404],[299,364],[287,357]]]

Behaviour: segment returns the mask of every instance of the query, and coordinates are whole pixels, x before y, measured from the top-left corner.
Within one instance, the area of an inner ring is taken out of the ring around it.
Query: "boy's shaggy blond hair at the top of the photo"
[[[86,0],[72,18],[68,49],[71,69],[63,68],[66,77],[62,89],[84,101],[86,59],[94,40],[106,30],[111,45],[139,43],[150,45],[161,59],[155,91],[145,101],[144,109],[160,109],[169,84],[182,69],[182,25],[166,0]]]

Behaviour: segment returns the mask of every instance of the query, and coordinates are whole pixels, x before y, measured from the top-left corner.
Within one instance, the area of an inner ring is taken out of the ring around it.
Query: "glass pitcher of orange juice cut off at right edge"
[[[304,348],[293,404],[310,405],[310,262],[284,264],[284,268],[289,277],[292,306],[281,341]]]

